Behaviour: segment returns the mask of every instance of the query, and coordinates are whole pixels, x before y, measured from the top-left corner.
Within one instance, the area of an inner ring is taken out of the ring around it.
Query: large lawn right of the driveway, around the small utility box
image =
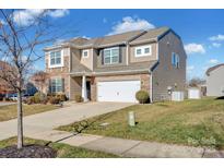
[[[138,124],[128,125],[128,112],[135,112]],[[109,123],[101,127],[101,123]],[[86,121],[58,128],[63,131],[162,143],[224,148],[224,100],[203,98],[181,103],[134,105]]]

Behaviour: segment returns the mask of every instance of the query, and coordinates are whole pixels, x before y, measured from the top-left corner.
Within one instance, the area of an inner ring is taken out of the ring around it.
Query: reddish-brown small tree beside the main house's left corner
[[[38,92],[46,93],[45,88],[48,85],[48,79],[49,79],[48,73],[44,71],[37,71],[31,77],[31,81],[37,87]]]

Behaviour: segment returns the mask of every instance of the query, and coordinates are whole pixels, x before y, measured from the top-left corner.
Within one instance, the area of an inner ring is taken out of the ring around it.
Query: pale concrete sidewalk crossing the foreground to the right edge
[[[33,139],[66,143],[93,151],[101,151],[121,157],[145,158],[202,158],[224,157],[224,151],[202,147],[163,144],[155,142],[133,141],[99,135],[78,134],[63,131],[47,131],[31,135]]]

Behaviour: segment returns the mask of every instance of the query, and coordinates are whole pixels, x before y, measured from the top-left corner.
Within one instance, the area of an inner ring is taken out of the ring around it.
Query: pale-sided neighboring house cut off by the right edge
[[[224,63],[207,70],[207,96],[224,96]]]

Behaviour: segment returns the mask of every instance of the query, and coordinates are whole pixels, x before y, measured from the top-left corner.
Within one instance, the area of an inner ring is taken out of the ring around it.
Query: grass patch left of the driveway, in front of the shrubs
[[[49,110],[57,109],[59,107],[54,105],[23,105],[23,116],[30,116],[34,113],[40,113]],[[0,121],[7,121],[11,119],[15,119],[17,117],[16,113],[16,105],[8,105],[0,106]]]

